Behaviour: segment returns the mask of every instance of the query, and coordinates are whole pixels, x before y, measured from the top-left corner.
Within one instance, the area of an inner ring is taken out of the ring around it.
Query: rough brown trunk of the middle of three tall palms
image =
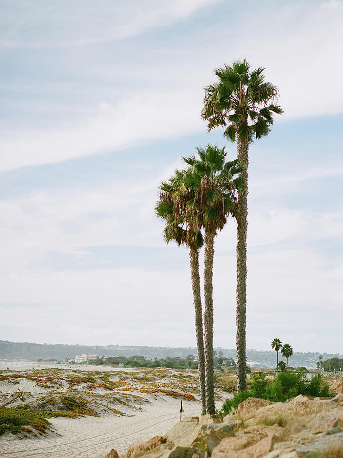
[[[214,368],[213,368],[213,254],[214,234],[205,232],[205,269],[204,269],[204,295],[205,295],[205,381],[206,381],[206,412],[215,413],[214,406]]]

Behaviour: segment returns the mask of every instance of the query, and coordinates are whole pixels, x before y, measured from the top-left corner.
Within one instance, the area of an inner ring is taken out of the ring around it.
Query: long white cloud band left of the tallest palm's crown
[[[186,103],[182,101],[186,100]],[[161,103],[161,101],[163,101]],[[0,139],[5,152],[0,170],[49,164],[109,149],[139,146],[152,138],[182,136],[199,130],[201,93],[137,93],[115,107],[100,105],[96,116],[64,130],[22,132]],[[182,110],[178,106],[182,103]],[[194,110],[194,105],[198,107]],[[178,115],[176,116],[176,112]]]

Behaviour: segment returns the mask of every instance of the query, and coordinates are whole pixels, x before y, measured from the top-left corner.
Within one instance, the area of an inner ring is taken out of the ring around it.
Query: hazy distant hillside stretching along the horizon
[[[223,356],[236,359],[235,349],[217,348],[217,352],[221,351]],[[108,345],[102,347],[99,345],[64,345],[64,344],[35,344],[30,342],[9,342],[8,340],[0,340],[0,359],[66,359],[73,358],[75,355],[81,354],[98,355],[98,356],[145,356],[148,359],[165,358],[166,356],[180,356],[185,358],[187,355],[196,355],[196,349],[192,347],[142,347],[133,345]],[[319,352],[295,352],[289,359],[289,364],[293,367],[305,366],[316,367]],[[262,365],[266,367],[274,367],[276,355],[275,351],[259,351],[247,350],[246,352],[248,364]],[[339,353],[322,353],[323,359],[343,358]],[[280,357],[279,357],[280,358]]]

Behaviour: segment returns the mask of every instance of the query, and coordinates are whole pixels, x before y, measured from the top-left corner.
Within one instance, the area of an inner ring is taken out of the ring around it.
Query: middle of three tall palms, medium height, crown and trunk
[[[199,160],[194,156],[184,158],[191,166],[185,174],[184,184],[194,191],[188,202],[197,228],[205,229],[204,268],[204,328],[205,328],[205,382],[206,411],[215,413],[213,367],[213,256],[214,237],[221,231],[229,214],[236,212],[235,191],[244,187],[238,176],[242,166],[238,161],[226,162],[224,148],[208,145],[197,148]]]

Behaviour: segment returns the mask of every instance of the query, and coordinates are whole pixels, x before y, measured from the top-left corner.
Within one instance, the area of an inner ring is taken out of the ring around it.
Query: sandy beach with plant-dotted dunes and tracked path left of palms
[[[113,370],[113,367],[109,368],[110,371],[104,371],[104,367],[102,371],[94,367],[87,371],[84,366],[82,369],[2,371],[2,406],[18,407],[23,404],[16,397],[18,390],[25,393],[25,403],[30,402],[32,406],[47,396],[77,393],[88,399],[90,406],[96,406],[95,411],[100,416],[49,418],[52,431],[37,437],[31,434],[20,438],[6,432],[0,436],[0,456],[96,458],[108,453],[111,448],[124,453],[132,444],[164,435],[170,430],[180,419],[181,399],[183,417],[201,414],[196,371]],[[92,378],[93,386],[84,382],[86,376]],[[112,385],[107,386],[99,380]],[[217,407],[221,405],[224,394],[219,391]],[[96,399],[94,403],[92,396]],[[114,407],[117,413],[111,411]]]

